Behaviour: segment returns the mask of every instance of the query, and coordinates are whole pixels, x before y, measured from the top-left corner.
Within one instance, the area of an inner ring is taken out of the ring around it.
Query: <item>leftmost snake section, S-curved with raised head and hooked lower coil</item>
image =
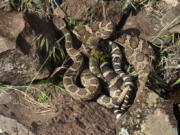
[[[86,70],[83,72],[83,74],[85,74],[89,85],[87,86],[87,83],[85,83],[85,86],[87,86],[85,88],[80,88],[76,85],[76,79],[82,69],[84,58],[82,54],[72,46],[71,35],[66,29],[64,20],[62,20],[60,17],[54,17],[53,22],[57,29],[63,32],[65,36],[66,51],[74,62],[73,65],[68,68],[64,74],[63,84],[65,89],[73,98],[77,100],[82,101],[93,99],[99,92],[98,79],[89,70]]]

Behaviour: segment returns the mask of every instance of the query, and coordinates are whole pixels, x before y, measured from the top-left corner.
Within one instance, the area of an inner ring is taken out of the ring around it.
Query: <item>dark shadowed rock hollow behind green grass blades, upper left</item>
[[[54,42],[57,40],[53,24],[48,17],[43,15],[25,14],[24,18],[25,28],[17,39],[17,48],[32,57],[47,57],[48,51],[52,49]],[[46,49],[46,44],[40,49],[38,43],[42,41],[42,38],[36,39],[39,36],[48,41],[48,49]]]

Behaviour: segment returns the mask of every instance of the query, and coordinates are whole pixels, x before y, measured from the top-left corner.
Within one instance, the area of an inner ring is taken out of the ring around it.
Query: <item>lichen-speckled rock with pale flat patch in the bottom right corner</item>
[[[141,91],[117,122],[117,131],[118,135],[178,135],[173,103],[153,91]]]

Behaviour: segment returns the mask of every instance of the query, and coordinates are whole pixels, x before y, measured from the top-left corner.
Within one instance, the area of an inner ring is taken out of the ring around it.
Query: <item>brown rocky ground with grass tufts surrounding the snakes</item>
[[[169,85],[169,97],[160,97],[148,82],[150,87],[138,92],[118,121],[112,110],[95,101],[73,100],[61,82],[69,58],[52,23],[57,5],[69,30],[106,18],[117,25],[117,33],[132,30],[150,41],[157,56],[156,72]],[[125,16],[121,5],[97,0],[43,4],[0,0],[0,135],[178,135],[180,1],[149,0]],[[61,70],[50,78],[58,66]]]

